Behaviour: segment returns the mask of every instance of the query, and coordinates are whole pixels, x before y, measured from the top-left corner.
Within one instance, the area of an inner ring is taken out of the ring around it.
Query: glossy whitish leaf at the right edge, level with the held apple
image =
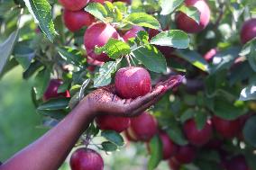
[[[256,100],[256,85],[252,84],[243,88],[240,94],[239,100],[240,101]]]

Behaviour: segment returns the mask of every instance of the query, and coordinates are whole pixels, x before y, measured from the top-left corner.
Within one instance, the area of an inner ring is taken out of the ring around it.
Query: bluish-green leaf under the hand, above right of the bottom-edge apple
[[[124,144],[123,137],[114,130],[104,130],[101,132],[101,136],[119,147]]]

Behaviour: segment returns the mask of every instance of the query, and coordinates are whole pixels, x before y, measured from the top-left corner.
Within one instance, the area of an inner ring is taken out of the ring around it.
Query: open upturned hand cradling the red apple
[[[151,93],[135,99],[122,99],[116,92],[114,85],[108,85],[96,89],[83,99],[82,104],[87,104],[89,112],[94,115],[111,114],[115,116],[132,117],[144,112],[157,103],[170,89],[180,85],[184,76],[170,76],[164,82],[160,82],[152,88]]]

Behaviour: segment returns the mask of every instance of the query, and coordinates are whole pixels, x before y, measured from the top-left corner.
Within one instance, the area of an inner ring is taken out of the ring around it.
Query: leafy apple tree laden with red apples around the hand
[[[102,170],[98,151],[127,142],[147,145],[150,170],[160,161],[172,170],[256,169],[255,1],[0,0],[0,33],[0,76],[21,65],[23,79],[34,79],[46,127],[96,88],[113,84],[133,100],[182,75],[139,116],[96,117],[72,170]]]

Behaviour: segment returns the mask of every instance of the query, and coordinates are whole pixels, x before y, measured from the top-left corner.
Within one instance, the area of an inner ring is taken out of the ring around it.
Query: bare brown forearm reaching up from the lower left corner
[[[69,155],[79,136],[93,120],[87,106],[79,104],[40,139],[10,158],[0,170],[56,170]]]

